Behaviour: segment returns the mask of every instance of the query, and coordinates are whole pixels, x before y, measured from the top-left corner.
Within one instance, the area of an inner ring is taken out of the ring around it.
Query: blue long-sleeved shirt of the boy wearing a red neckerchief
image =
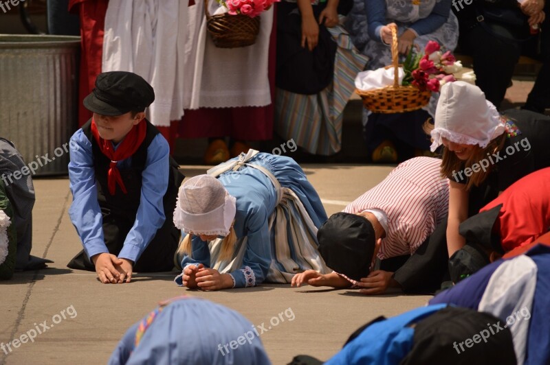
[[[102,215],[98,202],[98,190],[94,172],[94,156],[91,142],[80,129],[71,137],[69,155],[69,181],[73,202],[69,216],[83,242],[89,257],[109,252],[105,246],[102,228]],[[116,148],[117,146],[115,146]],[[142,172],[140,206],[135,222],[130,229],[118,257],[135,263],[164,224],[163,198],[168,187],[169,173],[168,142],[162,134],[157,134],[147,148],[145,169]],[[129,167],[131,157],[117,164],[119,169]]]

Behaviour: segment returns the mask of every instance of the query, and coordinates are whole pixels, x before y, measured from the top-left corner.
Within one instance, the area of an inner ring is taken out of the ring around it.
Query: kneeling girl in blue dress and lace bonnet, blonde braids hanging
[[[220,290],[327,272],[316,237],[326,220],[292,158],[250,150],[179,188],[174,224],[183,240],[175,262],[182,272],[175,281]]]

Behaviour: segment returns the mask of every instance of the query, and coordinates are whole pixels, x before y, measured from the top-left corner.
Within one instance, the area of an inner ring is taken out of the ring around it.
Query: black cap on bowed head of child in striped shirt
[[[335,213],[319,228],[319,252],[332,270],[359,281],[369,274],[375,247],[371,222],[350,213]]]

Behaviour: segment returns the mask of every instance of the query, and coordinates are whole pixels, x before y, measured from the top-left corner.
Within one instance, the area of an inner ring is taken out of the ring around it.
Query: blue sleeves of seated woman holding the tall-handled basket
[[[367,23],[369,23],[369,36],[382,42],[380,29],[393,21],[386,19],[386,0],[364,0]],[[451,9],[452,0],[441,0],[436,3],[430,15],[412,23],[408,28],[416,32],[417,36],[428,34],[437,30],[447,21]]]

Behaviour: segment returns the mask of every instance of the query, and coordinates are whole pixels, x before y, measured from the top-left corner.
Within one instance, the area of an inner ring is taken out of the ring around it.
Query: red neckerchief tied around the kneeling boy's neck
[[[94,118],[91,119],[91,134],[94,135],[102,154],[111,160],[109,172],[107,172],[107,186],[109,187],[109,193],[111,196],[115,195],[117,183],[120,186],[120,189],[122,189],[122,192],[126,193],[126,187],[122,181],[122,176],[120,176],[120,171],[116,167],[116,163],[135,154],[135,151],[137,151],[137,148],[140,148],[140,145],[145,139],[146,130],[147,124],[143,119],[137,124],[137,126],[134,126],[128,134],[126,134],[126,137],[124,137],[122,142],[120,142],[120,145],[115,151],[113,142],[107,141],[100,137],[98,127],[96,126],[96,121],[94,121]]]

